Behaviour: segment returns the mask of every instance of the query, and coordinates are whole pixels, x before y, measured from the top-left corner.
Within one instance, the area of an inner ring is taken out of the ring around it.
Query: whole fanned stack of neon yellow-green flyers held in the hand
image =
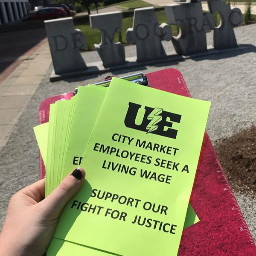
[[[86,180],[47,255],[177,256],[183,228],[199,221],[189,198],[209,108],[117,78],[51,105],[35,127],[46,196],[79,165]]]

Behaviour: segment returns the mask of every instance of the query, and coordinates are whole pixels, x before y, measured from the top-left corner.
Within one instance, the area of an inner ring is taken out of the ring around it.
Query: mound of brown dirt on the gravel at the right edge
[[[256,127],[223,140],[215,150],[232,188],[256,192]]]

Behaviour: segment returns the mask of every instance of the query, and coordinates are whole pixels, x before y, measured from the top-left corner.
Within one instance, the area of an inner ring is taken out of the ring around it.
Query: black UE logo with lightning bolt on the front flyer
[[[125,116],[125,126],[128,128],[157,134],[176,139],[177,130],[172,129],[172,123],[180,123],[181,115],[164,111],[163,108],[141,108],[140,104],[129,102]]]

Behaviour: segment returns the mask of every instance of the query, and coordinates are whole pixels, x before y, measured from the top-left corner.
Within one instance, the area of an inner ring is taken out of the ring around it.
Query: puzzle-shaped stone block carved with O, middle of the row
[[[158,25],[154,7],[134,10],[133,27],[126,32],[128,43],[135,43],[137,61],[148,61],[166,58],[162,40],[172,39],[172,29],[166,24]]]

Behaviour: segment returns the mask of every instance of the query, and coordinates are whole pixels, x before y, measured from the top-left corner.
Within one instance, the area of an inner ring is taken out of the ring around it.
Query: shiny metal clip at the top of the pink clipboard
[[[111,82],[112,77],[113,76],[106,76],[105,81],[96,83],[95,85],[108,87],[110,82]],[[125,79],[127,81],[131,81],[131,82],[134,82],[136,84],[141,84],[141,85],[144,85],[144,86],[149,86],[147,76],[145,74],[143,74],[142,72],[132,74],[132,75],[129,75],[129,76],[123,76],[123,77],[121,77],[121,79]],[[78,88],[75,89],[73,95],[76,95],[77,92],[78,92]]]

